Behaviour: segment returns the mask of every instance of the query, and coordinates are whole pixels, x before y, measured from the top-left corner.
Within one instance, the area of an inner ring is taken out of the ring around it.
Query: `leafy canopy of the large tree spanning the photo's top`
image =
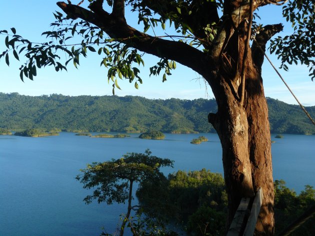
[[[97,52],[102,58],[100,65],[108,68],[108,82],[113,82],[114,93],[114,88],[120,89],[117,78],[128,79],[130,83],[134,82],[135,88],[142,83],[138,66],[140,64],[144,66],[144,61],[141,58],[143,54],[139,51],[161,57],[160,61],[149,70],[150,75],[162,73],[162,81],[165,81],[166,77],[171,74],[171,70],[176,68],[175,61],[184,65],[187,64],[186,61],[193,61],[190,60],[191,58],[187,60],[190,52],[195,57],[200,56],[203,60],[211,62],[211,59],[204,55],[211,50],[212,52],[213,50],[218,51],[219,49],[215,49],[214,46],[221,44],[219,42],[226,33],[221,32],[223,34],[220,34],[226,19],[224,7],[227,8],[228,5],[227,3],[224,5],[223,0],[107,0],[107,4],[112,7],[112,13],[103,10],[103,0],[89,1],[88,8],[91,11],[79,4],[71,4],[70,1],[68,1],[69,4],[57,2],[57,5],[67,15],[64,16],[57,11],[54,13],[56,21],[50,24],[53,30],[42,33],[48,39],[42,43],[24,39],[17,34],[15,28],[0,30],[0,34],[5,35],[7,47],[0,54],[0,58],[4,57],[6,64],[9,65],[10,53],[17,60],[19,60],[20,54],[24,55],[27,59],[19,68],[20,78],[23,80],[24,77],[27,77],[32,80],[37,75],[36,68],[49,65],[53,66],[56,71],[66,70],[70,61],[77,67],[81,56],[86,57],[88,51]],[[262,5],[282,4],[286,1],[254,1],[253,10]],[[126,23],[124,4],[138,14],[138,23],[143,25],[143,32]],[[235,18],[236,12],[235,16],[232,16],[235,27],[243,17],[246,17],[245,10],[248,4],[249,2],[243,2],[240,8],[237,8],[240,12],[238,19]],[[309,75],[312,79],[315,77],[313,10],[312,0],[294,0],[284,5],[283,17],[292,23],[293,32],[290,35],[278,36],[271,40],[269,47],[270,52],[275,53],[281,59],[281,67],[287,70],[288,64],[292,64],[292,62],[297,64],[299,61],[309,67]],[[223,11],[223,14],[220,11]],[[110,26],[98,22],[95,15],[102,15],[104,20],[110,22]],[[254,15],[258,14],[254,13]],[[81,20],[77,20],[78,18]],[[166,24],[174,28],[175,35],[166,33],[161,36],[150,36],[145,34],[149,28],[161,27],[163,30],[167,30],[169,27]],[[265,34],[262,38],[258,36],[258,41],[266,40],[268,38],[265,37],[270,37],[273,31],[282,29],[282,26],[277,26],[278,28],[261,24],[253,26],[257,36],[258,33]],[[82,38],[81,42],[74,41],[73,43],[72,38],[75,39],[77,36]],[[172,41],[164,38],[170,38]],[[148,45],[150,42],[153,42],[152,45]],[[60,56],[60,52],[65,52],[67,56],[63,58]],[[198,64],[194,62],[187,66],[197,72],[199,70]]]

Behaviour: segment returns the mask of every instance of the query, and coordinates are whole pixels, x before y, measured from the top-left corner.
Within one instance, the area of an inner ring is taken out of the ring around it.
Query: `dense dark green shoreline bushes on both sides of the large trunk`
[[[283,180],[276,180],[274,193],[276,234],[315,204],[315,190],[309,185],[297,195]],[[155,182],[143,181],[136,196],[150,219],[183,224],[193,236],[224,235],[227,194],[221,174],[205,169],[177,171]],[[314,219],[308,219],[291,236],[313,235]]]

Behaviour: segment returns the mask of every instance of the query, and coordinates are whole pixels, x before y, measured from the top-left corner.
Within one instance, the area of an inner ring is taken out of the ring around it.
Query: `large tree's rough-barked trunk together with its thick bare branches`
[[[272,0],[273,3],[279,1],[281,0]],[[166,15],[167,9],[172,11],[173,7],[167,0],[141,2],[160,15]],[[198,2],[204,4],[204,7],[192,5]],[[271,0],[225,0],[222,20],[219,20],[217,13],[213,13],[216,12],[215,4],[200,2],[191,1],[188,6],[191,13],[186,17],[182,16],[182,22],[190,22],[191,31],[197,38],[204,36],[202,29],[207,24],[214,21],[220,26],[213,41],[209,45],[203,44],[208,49],[207,53],[188,44],[152,37],[132,28],[124,18],[124,0],[113,0],[112,13],[102,8],[103,0],[92,2],[89,5],[91,11],[65,2],[57,2],[57,5],[70,18],[81,18],[93,23],[117,41],[158,57],[175,60],[203,76],[209,83],[218,106],[216,114],[208,115],[208,121],[217,131],[222,146],[228,195],[228,225],[240,199],[252,197],[261,187],[264,200],[256,231],[272,236],[274,220],[271,141],[261,78],[263,53],[257,46],[264,50],[266,42],[282,26],[267,25],[261,28],[256,37],[257,43],[253,43],[250,50],[245,44],[248,30],[246,19],[250,15],[250,9],[269,4]],[[164,6],[162,10],[159,5]],[[200,15],[206,17],[198,18]],[[246,60],[243,60],[246,47],[248,53],[245,53]],[[240,78],[242,70],[244,81]]]

